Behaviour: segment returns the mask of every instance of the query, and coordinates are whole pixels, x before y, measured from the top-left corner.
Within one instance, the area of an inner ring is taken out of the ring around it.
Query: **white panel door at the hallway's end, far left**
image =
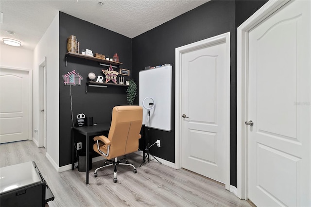
[[[29,139],[29,71],[0,69],[0,143]]]

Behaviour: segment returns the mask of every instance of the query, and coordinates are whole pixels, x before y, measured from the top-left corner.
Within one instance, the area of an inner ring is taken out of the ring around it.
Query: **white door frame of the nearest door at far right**
[[[237,29],[237,166],[238,197],[248,199],[248,33],[289,0],[270,0]]]

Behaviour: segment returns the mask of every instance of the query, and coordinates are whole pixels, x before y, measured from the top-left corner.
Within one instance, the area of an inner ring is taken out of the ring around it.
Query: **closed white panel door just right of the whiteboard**
[[[229,45],[210,40],[181,54],[181,167],[222,183],[229,171]]]

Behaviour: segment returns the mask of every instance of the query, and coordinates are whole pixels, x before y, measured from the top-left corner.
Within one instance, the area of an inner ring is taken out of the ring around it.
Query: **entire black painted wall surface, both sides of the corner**
[[[113,55],[118,52],[121,66],[131,69],[131,78],[138,83],[138,72],[146,66],[174,63],[175,48],[200,41],[215,35],[231,32],[230,63],[230,184],[237,187],[237,27],[256,12],[266,0],[211,0],[179,17],[176,17],[133,39],[101,28],[81,19],[60,13],[60,74],[76,69],[84,77],[81,86],[71,86],[73,117],[78,113],[93,116],[94,122],[111,120],[111,110],[115,105],[126,103],[126,88],[88,88],[85,94],[87,74],[101,74],[96,62],[68,58],[67,37],[77,36],[81,49],[91,49],[93,53]],[[151,129],[151,143],[161,139],[160,148],[152,148],[157,157],[175,162],[175,65],[172,80],[172,132]],[[139,83],[138,83],[139,85]],[[71,112],[70,86],[63,84],[60,77],[60,166],[71,163]],[[138,98],[134,104],[138,104]],[[79,139],[79,138],[78,138]],[[83,140],[83,138],[80,138]],[[84,145],[85,146],[85,145]],[[141,146],[140,146],[141,147]]]

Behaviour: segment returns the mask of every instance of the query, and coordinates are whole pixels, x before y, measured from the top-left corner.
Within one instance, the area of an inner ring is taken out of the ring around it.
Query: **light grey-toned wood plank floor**
[[[45,157],[45,149],[37,148],[33,141],[0,144],[0,155],[0,167],[35,161],[55,196],[48,203],[50,207],[251,206],[225,190],[224,185],[187,170],[154,161],[139,168],[141,156],[136,154],[127,156],[136,166],[136,174],[128,166],[118,166],[117,183],[113,183],[113,167],[100,170],[94,178],[96,167],[103,164],[96,162],[90,170],[89,185],[85,184],[85,173],[77,168],[57,173]]]

